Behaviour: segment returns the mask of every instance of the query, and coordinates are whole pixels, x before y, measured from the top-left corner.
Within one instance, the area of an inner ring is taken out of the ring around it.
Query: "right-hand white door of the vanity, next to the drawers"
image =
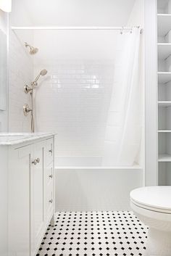
[[[34,144],[34,157],[31,160],[31,244],[33,255],[38,250],[44,231],[44,149],[44,141]]]

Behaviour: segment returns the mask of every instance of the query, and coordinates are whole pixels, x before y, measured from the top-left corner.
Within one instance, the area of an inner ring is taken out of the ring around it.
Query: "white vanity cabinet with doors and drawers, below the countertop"
[[[54,137],[9,146],[9,256],[35,256],[54,217]]]

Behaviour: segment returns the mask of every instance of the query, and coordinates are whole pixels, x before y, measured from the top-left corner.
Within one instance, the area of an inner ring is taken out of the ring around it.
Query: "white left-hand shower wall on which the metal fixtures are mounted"
[[[12,14],[10,14],[9,25],[20,18],[23,22],[30,24],[30,16],[24,6],[17,9],[12,2]],[[24,86],[33,80],[33,57],[29,49],[25,48],[25,41],[33,44],[33,32],[25,30],[16,33],[9,29],[9,131],[30,132],[30,115],[25,117],[22,111],[24,104],[30,105],[30,95],[25,94]]]

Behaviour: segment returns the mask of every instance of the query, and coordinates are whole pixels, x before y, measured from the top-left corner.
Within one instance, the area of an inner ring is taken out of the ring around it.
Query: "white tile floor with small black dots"
[[[133,212],[57,212],[37,256],[143,256],[147,229]]]

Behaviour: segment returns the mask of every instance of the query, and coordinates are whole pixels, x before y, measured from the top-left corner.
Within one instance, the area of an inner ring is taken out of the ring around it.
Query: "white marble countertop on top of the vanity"
[[[56,133],[0,133],[0,146],[21,144],[36,139],[54,136]]]

